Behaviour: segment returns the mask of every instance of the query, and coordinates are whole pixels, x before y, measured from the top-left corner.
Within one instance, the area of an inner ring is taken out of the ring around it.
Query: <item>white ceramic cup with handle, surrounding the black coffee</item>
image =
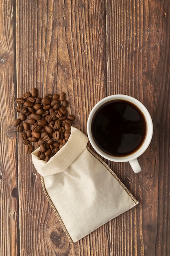
[[[125,156],[114,156],[114,155],[110,155],[105,153],[95,142],[94,137],[92,135],[92,121],[94,119],[94,115],[96,115],[96,111],[98,111],[99,108],[101,108],[102,105],[105,105],[105,103],[107,102],[111,102],[111,101],[129,101],[130,103],[132,103],[133,105],[135,105],[138,110],[140,110],[140,112],[142,112],[144,119],[145,119],[145,123],[146,123],[146,133],[145,133],[145,137],[143,139],[142,144],[139,146],[139,148],[137,148],[137,150],[135,150],[134,152],[132,152],[129,155],[125,155]],[[139,157],[140,155],[142,155],[144,153],[144,151],[148,148],[150,141],[152,139],[153,136],[153,122],[152,119],[150,117],[150,114],[148,112],[148,110],[146,109],[146,107],[137,99],[128,96],[128,95],[124,95],[124,94],[115,94],[115,95],[111,95],[108,97],[105,97],[104,99],[100,100],[92,109],[92,111],[89,114],[89,118],[87,121],[87,135],[89,138],[90,143],[92,144],[93,148],[96,150],[96,152],[98,154],[100,154],[102,157],[113,161],[113,162],[129,162],[133,171],[135,173],[139,173],[141,171],[141,167],[139,165],[139,162],[137,160],[137,157]]]

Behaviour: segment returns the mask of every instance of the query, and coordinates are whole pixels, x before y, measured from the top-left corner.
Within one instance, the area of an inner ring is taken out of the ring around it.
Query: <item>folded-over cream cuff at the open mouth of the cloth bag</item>
[[[72,162],[86,148],[88,142],[87,136],[77,128],[71,126],[71,135],[67,143],[53,156],[48,162],[39,159],[37,148],[31,155],[33,164],[37,172],[45,177],[65,171]],[[50,173],[49,173],[50,169]]]

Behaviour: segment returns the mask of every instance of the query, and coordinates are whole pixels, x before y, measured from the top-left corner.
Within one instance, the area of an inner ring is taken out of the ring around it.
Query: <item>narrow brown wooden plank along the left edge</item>
[[[15,11],[14,11],[15,12]],[[14,17],[11,1],[0,3],[0,255],[18,255],[19,212],[15,119]],[[13,104],[11,104],[11,102]]]

